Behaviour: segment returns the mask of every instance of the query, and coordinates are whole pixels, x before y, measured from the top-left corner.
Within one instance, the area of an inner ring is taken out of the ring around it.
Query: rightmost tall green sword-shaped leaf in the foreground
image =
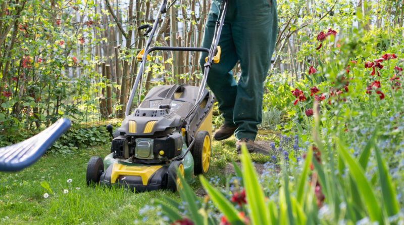
[[[377,160],[377,170],[379,171],[380,184],[382,186],[382,194],[384,207],[386,207],[387,215],[393,216],[398,213],[398,203],[395,199],[395,187],[391,182],[390,175],[384,165],[380,151],[377,146],[374,146]]]

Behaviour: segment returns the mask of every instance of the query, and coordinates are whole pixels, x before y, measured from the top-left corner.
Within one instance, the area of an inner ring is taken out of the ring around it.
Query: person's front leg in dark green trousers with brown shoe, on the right
[[[277,36],[275,0],[236,0],[236,19],[231,25],[241,77],[237,85],[233,121],[237,139],[254,141],[262,122],[264,81]]]

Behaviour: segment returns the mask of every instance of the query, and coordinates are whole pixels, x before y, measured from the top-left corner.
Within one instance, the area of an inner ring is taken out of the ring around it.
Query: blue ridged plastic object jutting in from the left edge
[[[69,119],[61,118],[30,139],[0,148],[0,171],[18,171],[36,162],[70,126]]]

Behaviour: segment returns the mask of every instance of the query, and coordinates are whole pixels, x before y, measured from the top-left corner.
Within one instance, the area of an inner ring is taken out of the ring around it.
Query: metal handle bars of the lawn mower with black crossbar
[[[175,1],[176,0],[174,0],[173,3],[171,3],[169,8],[174,4]],[[185,120],[195,111],[196,106],[198,106],[200,104],[200,102],[202,101],[202,94],[203,94],[203,90],[206,87],[206,81],[207,81],[207,78],[208,78],[208,73],[209,73],[209,70],[210,70],[210,68],[212,66],[213,57],[214,57],[214,54],[215,54],[215,52],[217,50],[217,47],[218,47],[218,44],[219,44],[219,37],[220,37],[220,34],[222,32],[224,19],[225,19],[226,12],[227,12],[227,5],[228,5],[228,0],[222,0],[222,4],[221,4],[221,7],[220,7],[220,11],[222,11],[222,13],[221,14],[219,13],[219,15],[218,15],[218,20],[216,21],[216,26],[215,26],[214,37],[213,37],[213,40],[212,40],[211,48],[209,50],[206,49],[206,48],[184,48],[184,47],[153,47],[153,48],[150,48],[150,44],[151,44],[151,41],[153,41],[157,26],[159,24],[160,17],[161,17],[161,15],[163,13],[166,13],[166,9],[168,9],[167,8],[167,0],[163,0],[163,2],[160,5],[160,10],[159,10],[159,12],[157,14],[156,20],[155,20],[155,22],[153,24],[153,27],[151,28],[151,32],[150,32],[151,34],[150,34],[149,38],[147,39],[146,45],[144,47],[144,54],[143,54],[143,57],[142,57],[142,60],[141,60],[139,71],[138,71],[138,73],[136,75],[136,79],[135,79],[135,82],[133,84],[132,91],[131,91],[129,99],[128,99],[128,103],[126,104],[125,117],[127,117],[129,115],[129,113],[130,113],[133,98],[134,98],[134,96],[136,94],[137,86],[139,84],[140,78],[143,76],[144,66],[145,66],[145,63],[146,63],[145,59],[147,59],[147,53],[149,53],[151,51],[155,51],[155,50],[197,51],[197,52],[208,52],[209,53],[208,54],[208,60],[204,65],[204,68],[205,68],[204,76],[203,76],[203,78],[201,80],[201,83],[200,83],[200,86],[199,86],[199,91],[198,91],[198,95],[196,97],[195,105],[188,112],[188,114],[185,117]],[[142,84],[140,84],[140,87],[139,87],[139,97],[138,97],[138,100],[137,100],[138,101],[137,105],[139,105],[139,100],[140,100],[140,95],[141,95],[141,88],[142,88],[141,85]]]

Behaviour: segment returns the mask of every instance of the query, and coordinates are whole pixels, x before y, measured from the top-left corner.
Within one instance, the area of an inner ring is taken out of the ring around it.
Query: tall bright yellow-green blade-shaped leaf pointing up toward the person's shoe
[[[242,155],[240,158],[244,170],[243,181],[245,184],[245,195],[252,224],[270,224],[268,206],[264,202],[265,195],[262,187],[258,183],[257,172],[251,163],[251,158],[244,145],[241,147],[241,152]]]

